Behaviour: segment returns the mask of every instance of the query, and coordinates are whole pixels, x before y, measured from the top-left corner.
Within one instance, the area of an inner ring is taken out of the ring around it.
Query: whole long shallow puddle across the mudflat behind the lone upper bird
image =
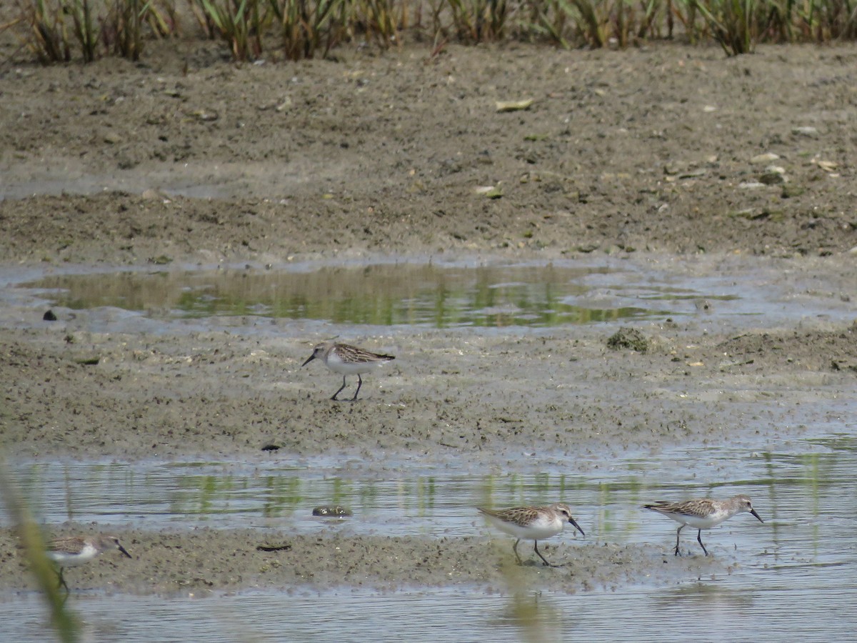
[[[836,301],[833,293],[795,292],[795,284],[782,278],[782,269],[770,263],[700,267],[694,261],[614,257],[108,271],[51,267],[0,274],[0,303],[28,304],[41,312],[68,309],[72,316],[81,310],[123,311],[102,314],[106,326],[99,330],[115,330],[117,320],[127,322],[128,315],[159,322],[267,317],[347,328],[550,328],[676,316],[711,321],[852,314],[848,302]]]

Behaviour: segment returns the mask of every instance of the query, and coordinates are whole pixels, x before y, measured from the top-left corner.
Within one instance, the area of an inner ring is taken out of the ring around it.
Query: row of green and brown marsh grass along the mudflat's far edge
[[[327,56],[345,42],[386,50],[405,36],[432,43],[427,57],[450,41],[623,48],[675,38],[734,56],[762,42],[857,39],[857,0],[188,0],[184,22],[176,2],[17,0],[0,29],[42,63],[137,60],[144,43],[179,34],[222,39],[236,61]]]

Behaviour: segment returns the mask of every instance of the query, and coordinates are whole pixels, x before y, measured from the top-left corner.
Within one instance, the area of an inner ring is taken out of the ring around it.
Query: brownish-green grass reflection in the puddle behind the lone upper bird
[[[112,306],[153,316],[265,315],[342,324],[552,327],[681,314],[698,293],[660,289],[594,292],[585,279],[606,267],[374,264],[312,272],[215,270],[54,275],[22,284],[52,305]],[[711,298],[711,296],[708,296]],[[716,298],[716,297],[715,297]],[[721,298],[733,298],[726,296]],[[669,302],[671,308],[663,308]],[[653,307],[657,303],[658,308]]]

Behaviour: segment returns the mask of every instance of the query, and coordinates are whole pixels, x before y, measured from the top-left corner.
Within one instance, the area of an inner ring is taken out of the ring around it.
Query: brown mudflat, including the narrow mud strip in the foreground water
[[[725,59],[680,45],[512,45],[236,66],[211,45],[179,43],[140,65],[6,65],[0,261],[15,275],[149,261],[607,253],[695,255],[711,273],[737,257],[777,271],[771,287],[796,305],[808,297],[847,310],[857,297],[855,63],[857,49],[837,46]],[[496,111],[498,100],[528,98],[527,111]],[[499,198],[479,190],[488,186]],[[3,313],[9,459],[252,460],[277,444],[279,454],[361,454],[371,476],[378,453],[391,475],[411,458],[512,470],[542,449],[584,474],[587,454],[740,439],[751,416],[762,433],[800,436],[805,416],[792,405],[853,399],[857,377],[857,328],[824,318],[647,324],[644,353],[611,350],[591,327],[522,338],[419,330],[348,338],[397,360],[367,378],[363,400],[337,404],[327,398],[338,376],[299,370],[321,338],[285,323],[277,336],[154,337],[93,332],[85,311],[38,322],[42,312]],[[291,550],[262,552],[253,532],[118,535],[135,558],[71,570],[75,586],[506,586],[521,574],[576,591],[734,564],[694,556],[665,566],[662,543],[568,533],[542,546],[565,563],[555,569],[510,568],[505,538],[286,530]],[[32,586],[8,529],[0,560],[0,586]]]

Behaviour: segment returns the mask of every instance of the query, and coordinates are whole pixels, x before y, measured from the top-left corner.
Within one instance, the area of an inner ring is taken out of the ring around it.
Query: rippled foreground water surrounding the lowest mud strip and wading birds
[[[145,515],[153,529],[249,524],[261,529],[261,539],[320,530],[506,538],[484,525],[474,505],[563,498],[587,536],[566,530],[557,538],[573,539],[581,550],[603,542],[655,544],[669,562],[676,525],[640,509],[642,502],[746,493],[765,521],[739,514],[704,532],[712,556],[739,564],[728,574],[678,579],[668,587],[640,578],[572,595],[531,588],[515,596],[482,587],[288,589],[205,599],[75,592],[70,605],[83,618],[84,640],[187,640],[189,632],[217,641],[847,639],[857,626],[857,438],[854,424],[822,428],[842,432],[764,448],[680,448],[590,460],[585,476],[548,467],[514,476],[449,472],[385,480],[335,469],[319,473],[309,463],[251,468],[241,462],[42,463],[18,465],[16,473],[49,524],[69,517],[134,523]],[[354,518],[310,515],[315,504],[328,502],[350,506]],[[692,530],[682,532],[681,544],[699,555]],[[0,595],[4,640],[41,640],[43,619],[36,594]],[[665,624],[676,621],[685,625]]]

